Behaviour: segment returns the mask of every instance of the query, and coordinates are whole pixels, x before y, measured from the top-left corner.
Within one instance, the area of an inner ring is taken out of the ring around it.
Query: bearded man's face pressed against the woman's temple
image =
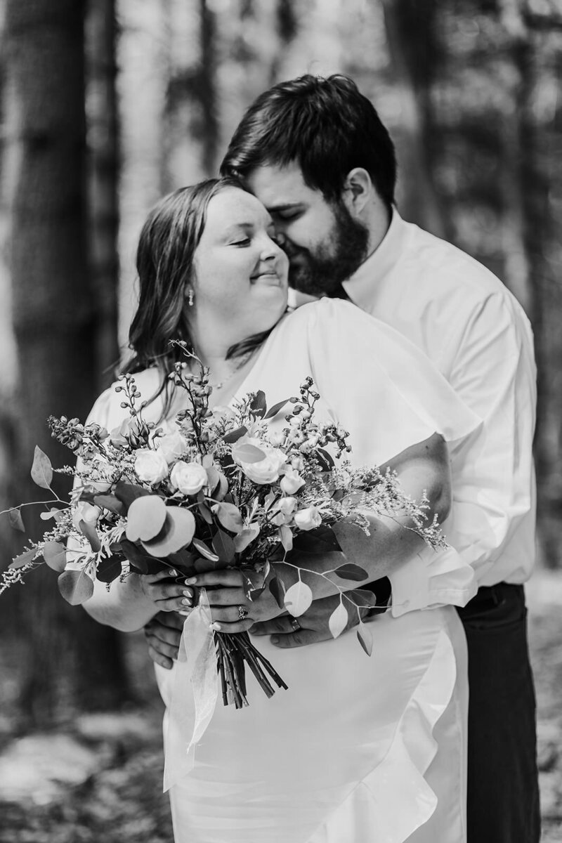
[[[257,167],[246,178],[283,235],[289,284],[311,295],[337,294],[367,256],[367,228],[343,199],[326,201],[308,187],[297,164]]]

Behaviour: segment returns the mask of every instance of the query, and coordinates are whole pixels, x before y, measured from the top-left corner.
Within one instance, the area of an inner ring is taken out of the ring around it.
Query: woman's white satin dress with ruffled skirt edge
[[[350,431],[356,465],[381,464],[435,431],[463,438],[479,423],[414,346],[340,300],[282,319],[238,396],[263,389],[271,406],[297,395],[308,374],[322,396],[318,415]],[[158,373],[136,383],[146,398]],[[90,418],[111,428],[122,416],[120,395],[107,390]],[[285,424],[283,413],[275,423]],[[428,548],[404,565],[440,577],[459,602],[474,593],[454,551]],[[404,609],[370,622],[370,658],[355,631],[296,649],[254,639],[289,690],[267,699],[250,674],[248,708],[222,706],[219,695],[193,769],[170,790],[176,843],[466,840],[463,628],[451,606]],[[169,705],[175,668],[156,672]],[[164,738],[179,740],[166,718]]]

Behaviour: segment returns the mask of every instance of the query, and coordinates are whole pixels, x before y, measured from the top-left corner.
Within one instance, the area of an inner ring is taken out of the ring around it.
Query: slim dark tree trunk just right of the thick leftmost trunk
[[[115,0],[95,0],[86,19],[88,106],[88,252],[99,324],[96,358],[101,391],[114,379],[119,361],[119,121],[115,77]]]

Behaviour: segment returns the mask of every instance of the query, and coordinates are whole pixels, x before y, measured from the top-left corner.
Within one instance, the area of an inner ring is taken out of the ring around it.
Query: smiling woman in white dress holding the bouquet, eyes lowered
[[[181,407],[166,385],[170,339],[189,341],[211,368],[211,406],[258,389],[273,405],[312,375],[318,416],[350,432],[352,463],[390,466],[405,491],[420,498],[427,490],[432,511],[447,517],[445,441],[468,435],[478,419],[414,346],[351,304],[324,298],[287,314],[286,255],[265,208],[237,182],[208,180],[165,197],[142,229],[137,268],[129,371],[149,401],[148,420],[172,430]],[[125,413],[108,389],[90,420],[112,429]],[[250,675],[249,707],[217,705],[193,769],[170,790],[176,843],[466,839],[463,628],[451,606],[408,612],[404,582],[424,588],[428,605],[439,595],[463,604],[474,593],[472,570],[453,550],[436,552],[399,524],[370,520],[370,536],[339,540],[369,582],[402,583],[400,599],[394,593],[392,608],[370,622],[372,656],[350,633],[292,650],[261,639],[289,690],[267,699]],[[283,578],[291,584],[291,569]],[[255,621],[280,614],[267,589],[249,603],[236,571],[196,583],[131,575],[109,592],[96,583],[85,609],[133,631],[162,609],[188,612],[194,584],[218,587],[208,594],[223,631],[251,634]],[[333,593],[323,577],[309,584],[315,598]],[[167,706],[175,669],[156,668]],[[174,722],[164,731],[169,757],[178,749]]]

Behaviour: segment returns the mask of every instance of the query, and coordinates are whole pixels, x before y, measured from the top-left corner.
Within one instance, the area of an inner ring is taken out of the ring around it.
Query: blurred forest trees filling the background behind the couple
[[[19,481],[35,443],[62,463],[45,416],[83,417],[126,355],[136,239],[149,207],[216,171],[244,109],[271,83],[345,72],[393,134],[403,216],[489,266],[533,321],[539,550],[543,565],[560,566],[562,11],[554,0],[0,0],[0,9],[3,507],[35,494]],[[0,531],[5,566],[14,543],[5,524]],[[57,598],[54,577],[35,580],[17,589],[19,600],[3,598],[12,607],[4,635],[19,632],[31,675],[43,666],[49,704],[27,706],[28,716],[57,716],[62,678],[71,701],[84,700],[85,675],[88,704],[123,699],[119,636],[88,631],[82,610]],[[78,636],[91,642],[91,663],[72,655]],[[54,664],[48,652],[63,652],[63,639],[68,661]]]

